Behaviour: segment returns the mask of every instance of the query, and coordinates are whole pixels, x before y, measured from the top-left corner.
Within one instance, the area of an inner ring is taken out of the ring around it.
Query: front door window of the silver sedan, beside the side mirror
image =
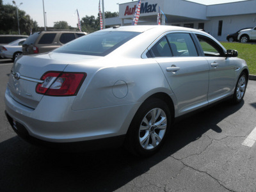
[[[200,45],[204,51],[205,56],[223,56],[223,49],[216,42],[212,41],[210,38],[202,35],[196,35]]]

